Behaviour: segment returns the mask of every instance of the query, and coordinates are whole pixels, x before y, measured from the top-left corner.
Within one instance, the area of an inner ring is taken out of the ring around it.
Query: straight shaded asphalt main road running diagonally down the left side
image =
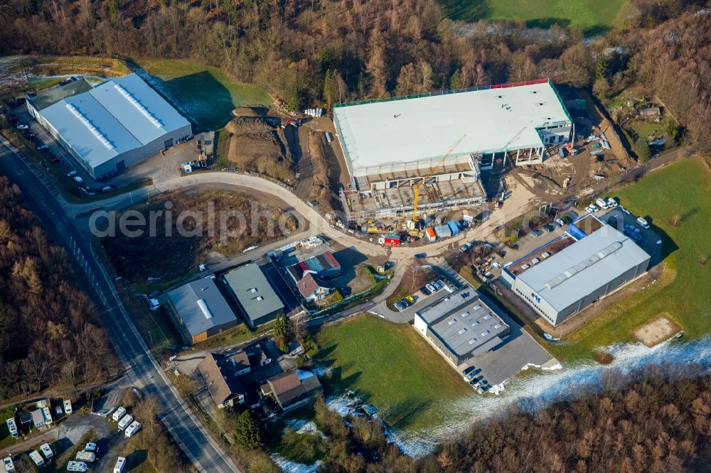
[[[163,411],[158,413],[166,428],[201,472],[240,472],[205,432],[188,407],[165,379],[156,359],[129,319],[116,289],[90,245],[88,232],[80,232],[41,180],[41,171],[16,153],[0,137],[0,169],[22,190],[25,205],[33,210],[56,244],[70,254],[77,275],[84,279],[102,312],[97,319],[109,332],[114,348],[127,366],[132,384],[155,396]]]

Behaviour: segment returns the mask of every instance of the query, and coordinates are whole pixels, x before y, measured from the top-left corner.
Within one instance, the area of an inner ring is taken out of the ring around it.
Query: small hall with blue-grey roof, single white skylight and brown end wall
[[[211,276],[171,290],[166,308],[188,344],[203,342],[239,324]]]

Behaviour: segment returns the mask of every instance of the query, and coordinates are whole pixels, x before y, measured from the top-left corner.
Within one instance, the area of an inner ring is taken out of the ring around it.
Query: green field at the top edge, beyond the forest
[[[586,34],[604,33],[625,0],[441,0],[454,20],[525,20],[528,27],[577,26]]]

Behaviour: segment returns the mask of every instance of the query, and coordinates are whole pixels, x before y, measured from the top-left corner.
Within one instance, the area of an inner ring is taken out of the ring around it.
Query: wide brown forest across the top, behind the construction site
[[[657,95],[711,147],[711,14],[631,0],[606,38],[523,21],[461,23],[435,0],[8,0],[0,55],[191,58],[292,109],[534,77]]]

